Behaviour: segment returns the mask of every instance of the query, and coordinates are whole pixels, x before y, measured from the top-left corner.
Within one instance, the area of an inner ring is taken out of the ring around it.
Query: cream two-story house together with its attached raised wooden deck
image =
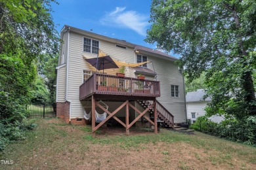
[[[158,50],[68,25],[62,28],[60,38],[62,43],[58,67],[56,67],[56,105],[57,116],[64,118],[65,122],[85,124],[87,122],[84,118],[85,110],[89,112],[100,109],[93,102],[103,101],[108,105],[108,111],[111,113],[121,107],[123,101],[127,101],[130,107],[117,110],[115,116],[125,122],[127,116],[125,112],[128,111],[129,122],[136,120],[139,124],[143,119],[137,119],[140,116],[138,111],[150,106],[148,100],[155,99],[158,116],[169,121],[170,126],[186,122],[184,78],[182,70],[175,63],[177,58]],[[96,70],[85,61],[86,58],[97,58],[99,50],[125,63],[151,62],[139,67],[126,66],[125,77],[119,78],[116,76],[119,69],[104,69],[102,74],[102,71]],[[146,76],[146,80],[138,80],[139,74]],[[106,92],[99,89],[102,82],[108,86]],[[139,91],[139,83],[143,84],[143,88],[147,87],[150,90]],[[113,91],[110,86],[117,87],[117,90]],[[126,104],[128,106],[128,103]],[[137,109],[131,108],[131,105]],[[154,109],[150,110],[154,112]],[[163,115],[166,112],[174,116],[174,122],[170,117]]]

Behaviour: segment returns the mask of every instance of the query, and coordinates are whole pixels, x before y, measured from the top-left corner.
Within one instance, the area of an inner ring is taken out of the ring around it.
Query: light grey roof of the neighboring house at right
[[[186,93],[186,102],[198,102],[198,101],[211,101],[210,97],[206,99],[203,98],[205,95],[205,91],[203,89],[198,89],[196,92],[188,92]]]

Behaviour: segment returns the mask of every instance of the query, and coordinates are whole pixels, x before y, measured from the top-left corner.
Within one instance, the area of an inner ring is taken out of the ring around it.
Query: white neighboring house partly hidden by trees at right
[[[186,114],[187,118],[191,120],[191,123],[196,121],[196,118],[199,116],[205,115],[205,107],[207,103],[211,102],[211,98],[207,97],[203,98],[205,92],[203,89],[198,89],[196,92],[188,92],[186,93]],[[213,122],[221,122],[224,120],[222,116],[211,116],[209,118]]]

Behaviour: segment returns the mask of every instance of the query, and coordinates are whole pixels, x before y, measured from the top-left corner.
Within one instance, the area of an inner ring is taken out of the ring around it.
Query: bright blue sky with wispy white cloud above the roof
[[[52,4],[52,15],[58,32],[66,24],[156,49],[156,44],[144,41],[150,28],[150,0],[57,1],[59,5]]]

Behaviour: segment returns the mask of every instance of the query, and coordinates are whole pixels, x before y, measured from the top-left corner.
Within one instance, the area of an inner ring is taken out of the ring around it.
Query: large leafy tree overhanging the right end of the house
[[[153,0],[147,42],[182,57],[188,80],[205,71],[211,114],[256,114],[256,1]]]

